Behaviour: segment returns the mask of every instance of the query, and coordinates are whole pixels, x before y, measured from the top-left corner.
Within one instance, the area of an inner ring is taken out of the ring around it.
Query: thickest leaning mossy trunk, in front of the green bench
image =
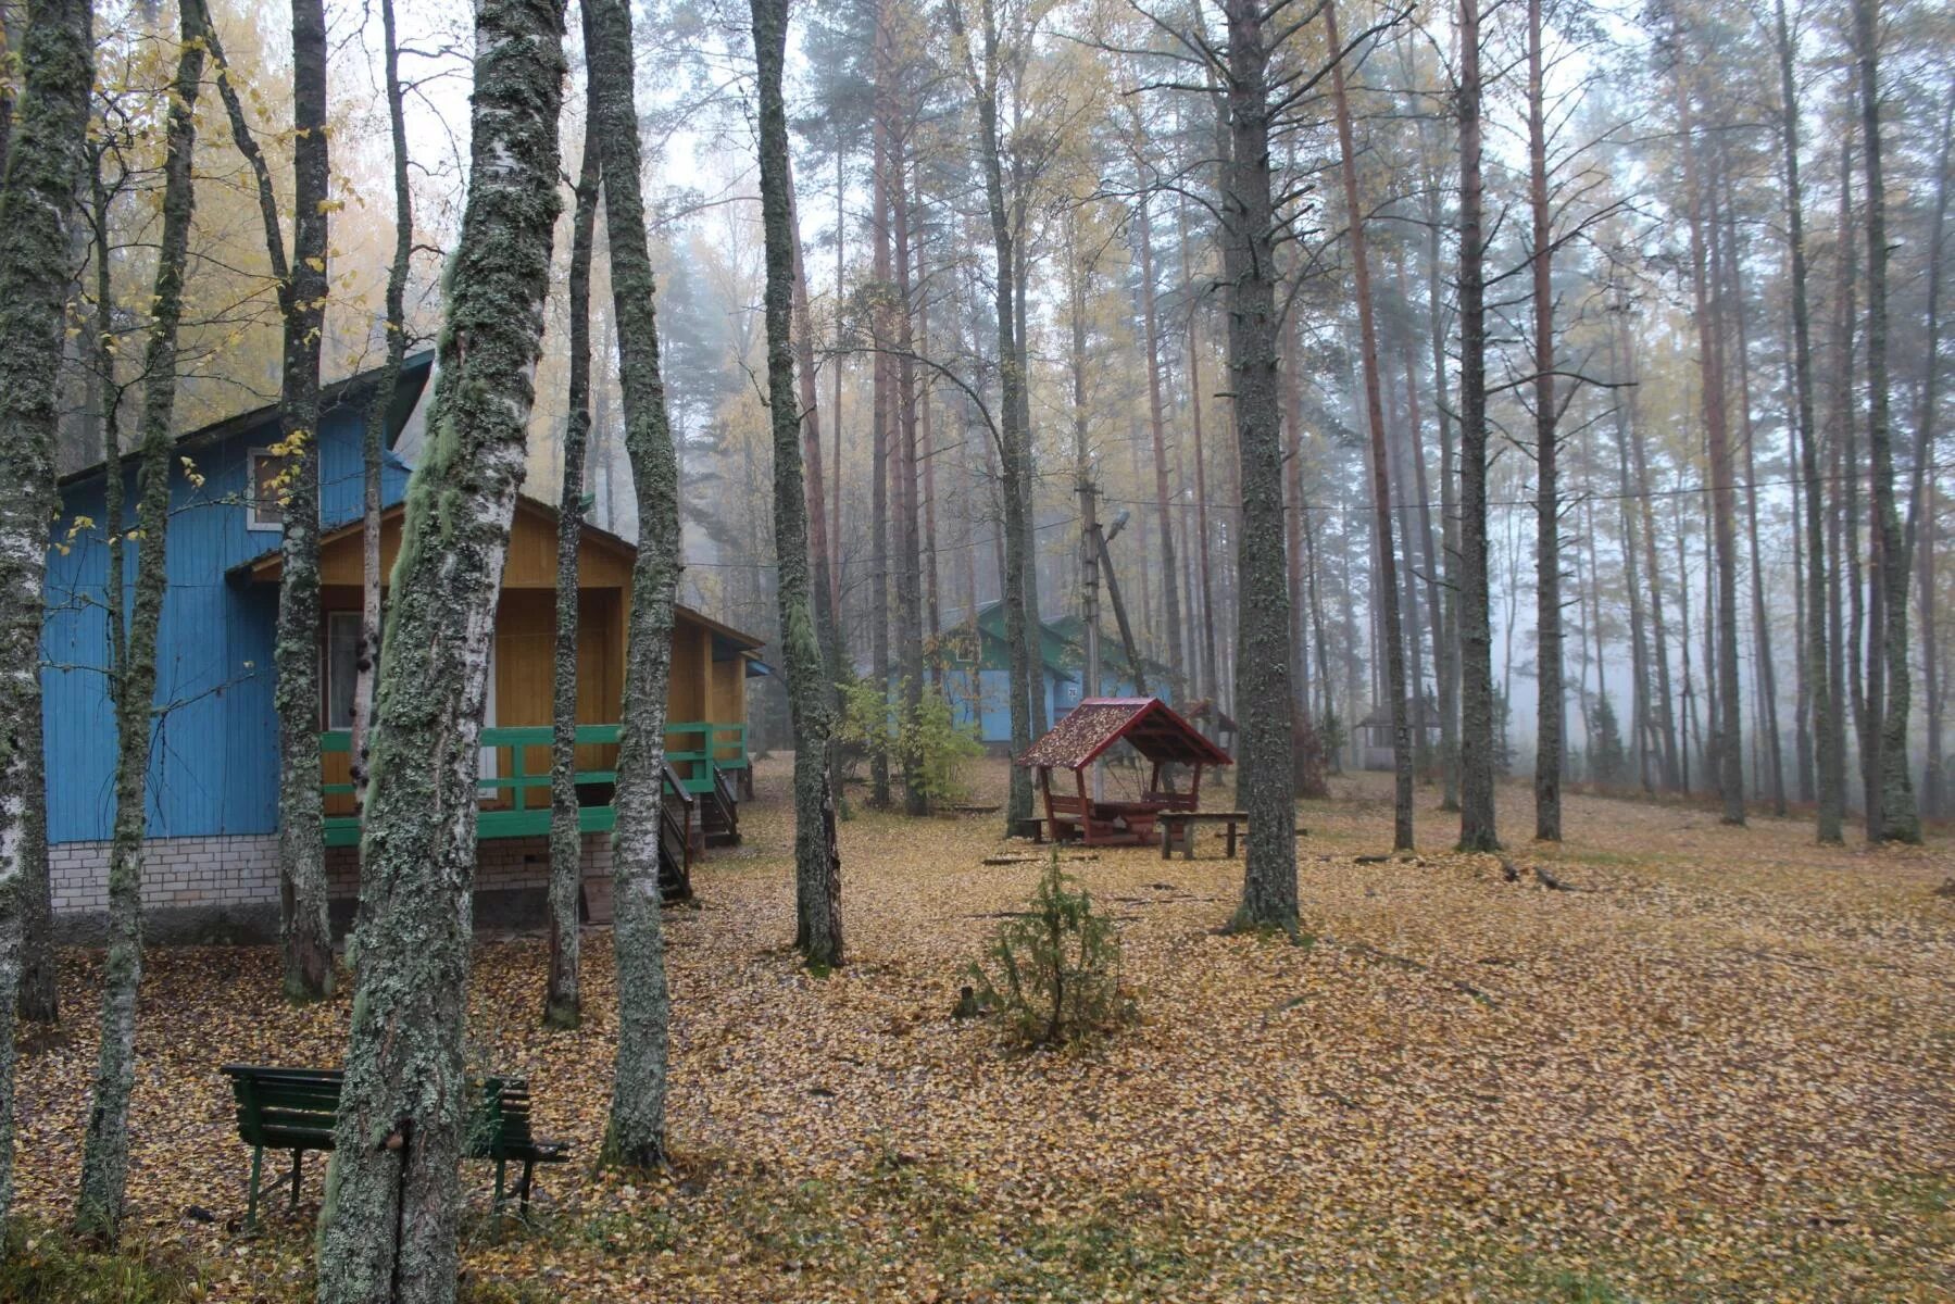
[[[475,6],[469,196],[381,643],[323,1304],[456,1294],[483,692],[536,401],[563,70],[561,4]]]

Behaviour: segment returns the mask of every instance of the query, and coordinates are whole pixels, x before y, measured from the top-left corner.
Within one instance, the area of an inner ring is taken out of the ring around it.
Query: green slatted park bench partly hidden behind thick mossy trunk
[[[299,1173],[307,1150],[330,1152],[340,1114],[340,1069],[276,1069],[248,1064],[223,1065],[239,1107],[239,1138],[252,1148],[250,1196],[244,1226],[258,1224],[258,1185],[266,1150],[291,1152],[291,1208],[299,1204]],[[530,1208],[530,1187],[538,1163],[571,1157],[565,1142],[530,1136],[530,1087],[520,1077],[483,1079],[481,1099],[469,1118],[465,1142],[469,1159],[495,1159],[495,1208],[502,1210],[504,1175],[522,1165],[516,1183],[520,1210]]]

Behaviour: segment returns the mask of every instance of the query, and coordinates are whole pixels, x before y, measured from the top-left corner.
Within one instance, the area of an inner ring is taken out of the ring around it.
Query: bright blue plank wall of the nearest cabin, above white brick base
[[[403,371],[409,403],[428,364]],[[360,516],[364,403],[330,407],[319,428],[321,524]],[[278,549],[278,530],[246,528],[250,450],[278,442],[278,416],[225,430],[172,452],[168,588],[156,631],[154,749],[149,768],[151,837],[274,833],[278,829],[278,719],[272,708],[272,639],[278,587],[227,573]],[[192,483],[190,457],[201,485]],[[125,502],[135,504],[127,459]],[[409,469],[389,454],[385,502],[399,502]],[[92,528],[74,530],[76,518]],[[51,843],[109,837],[115,813],[115,721],[108,702],[108,543],[102,538],[104,475],[63,485],[51,532],[47,628],[41,637],[47,737],[47,835]],[[135,583],[135,543],[123,549],[123,592]]]

